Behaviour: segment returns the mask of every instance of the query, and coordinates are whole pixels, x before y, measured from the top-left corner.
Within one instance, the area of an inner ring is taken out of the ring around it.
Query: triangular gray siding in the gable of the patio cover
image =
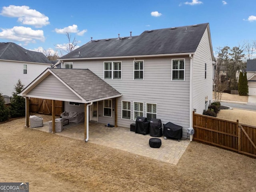
[[[41,97],[52,97],[64,98],[70,100],[81,100],[76,96],[70,89],[68,89],[60,80],[54,75],[50,74],[42,82],[40,82],[28,95],[41,96]]]

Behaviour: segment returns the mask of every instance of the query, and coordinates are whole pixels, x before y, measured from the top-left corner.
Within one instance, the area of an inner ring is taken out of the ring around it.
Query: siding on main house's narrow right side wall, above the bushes
[[[206,79],[204,76],[205,63],[207,66]],[[206,96],[208,96],[208,102],[212,102],[212,70],[212,56],[208,30],[206,29],[193,57],[192,107],[196,109],[198,114],[203,113]]]

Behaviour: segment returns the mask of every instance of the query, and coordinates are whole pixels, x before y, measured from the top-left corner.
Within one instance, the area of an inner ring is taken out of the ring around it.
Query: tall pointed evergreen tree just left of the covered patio
[[[20,79],[15,86],[15,92],[12,93],[12,103],[11,103],[11,117],[22,117],[26,115],[26,100],[18,94],[23,90],[24,85],[21,83]]]

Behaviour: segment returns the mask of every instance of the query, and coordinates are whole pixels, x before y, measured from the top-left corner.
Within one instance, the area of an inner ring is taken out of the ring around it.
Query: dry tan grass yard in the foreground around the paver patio
[[[29,182],[30,192],[256,191],[256,159],[235,152],[191,142],[174,166],[24,123],[0,124],[0,182]]]

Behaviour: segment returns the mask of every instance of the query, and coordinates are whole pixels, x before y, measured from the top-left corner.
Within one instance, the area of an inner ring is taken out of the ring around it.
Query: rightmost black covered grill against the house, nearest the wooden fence
[[[182,126],[171,122],[164,124],[164,136],[180,140],[182,138]]]

